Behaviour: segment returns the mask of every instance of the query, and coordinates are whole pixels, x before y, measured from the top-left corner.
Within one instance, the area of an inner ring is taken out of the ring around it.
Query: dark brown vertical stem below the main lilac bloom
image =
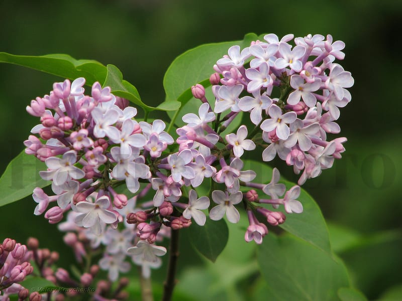
[[[167,266],[167,276],[163,289],[163,301],[170,301],[172,299],[173,288],[176,284],[175,274],[177,257],[179,256],[179,230],[173,230],[170,237],[169,247],[169,263]]]

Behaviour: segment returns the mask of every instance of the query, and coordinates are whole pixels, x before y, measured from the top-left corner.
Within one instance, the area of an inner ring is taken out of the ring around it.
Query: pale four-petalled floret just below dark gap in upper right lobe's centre
[[[271,131],[276,129],[276,135],[279,139],[286,140],[290,134],[289,127],[286,123],[292,123],[296,120],[297,115],[295,112],[287,112],[282,114],[282,110],[275,104],[271,105],[268,109],[270,119],[265,119],[261,124],[261,129],[264,131]]]

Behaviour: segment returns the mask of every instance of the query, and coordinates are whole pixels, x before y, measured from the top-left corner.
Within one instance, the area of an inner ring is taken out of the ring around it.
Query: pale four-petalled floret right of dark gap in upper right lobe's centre
[[[313,83],[305,83],[304,78],[300,75],[292,75],[290,77],[290,86],[295,89],[295,91],[289,94],[287,98],[288,104],[297,104],[301,97],[308,107],[314,107],[316,105],[317,98],[312,92],[320,89],[321,79],[317,78]]]

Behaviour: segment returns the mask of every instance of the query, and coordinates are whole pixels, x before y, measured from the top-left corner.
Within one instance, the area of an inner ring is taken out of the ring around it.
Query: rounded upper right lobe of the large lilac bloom
[[[332,167],[345,150],[346,138],[327,141],[327,133],[340,132],[335,120],[339,108],[351,100],[345,88],[354,80],[334,63],[345,57],[343,42],[334,42],[331,35],[308,35],[295,38],[292,47],[292,39],[286,35],[279,41],[269,34],[241,52],[232,46],[214,66],[217,73],[211,80],[216,84],[214,111],[230,110],[232,116],[250,112],[268,143],[262,159],[278,155],[296,174],[303,171],[298,181],[302,185]]]

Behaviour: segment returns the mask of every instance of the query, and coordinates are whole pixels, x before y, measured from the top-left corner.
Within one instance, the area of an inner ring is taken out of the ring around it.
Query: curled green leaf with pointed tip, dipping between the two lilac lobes
[[[162,103],[158,107],[151,107],[141,101],[140,94],[137,88],[130,84],[128,81],[123,80],[123,74],[115,65],[108,65],[108,74],[103,86],[109,86],[112,89],[112,93],[116,96],[124,97],[136,105],[142,107],[146,111],[152,110],[176,110],[179,107],[177,101],[169,101],[168,103]]]

